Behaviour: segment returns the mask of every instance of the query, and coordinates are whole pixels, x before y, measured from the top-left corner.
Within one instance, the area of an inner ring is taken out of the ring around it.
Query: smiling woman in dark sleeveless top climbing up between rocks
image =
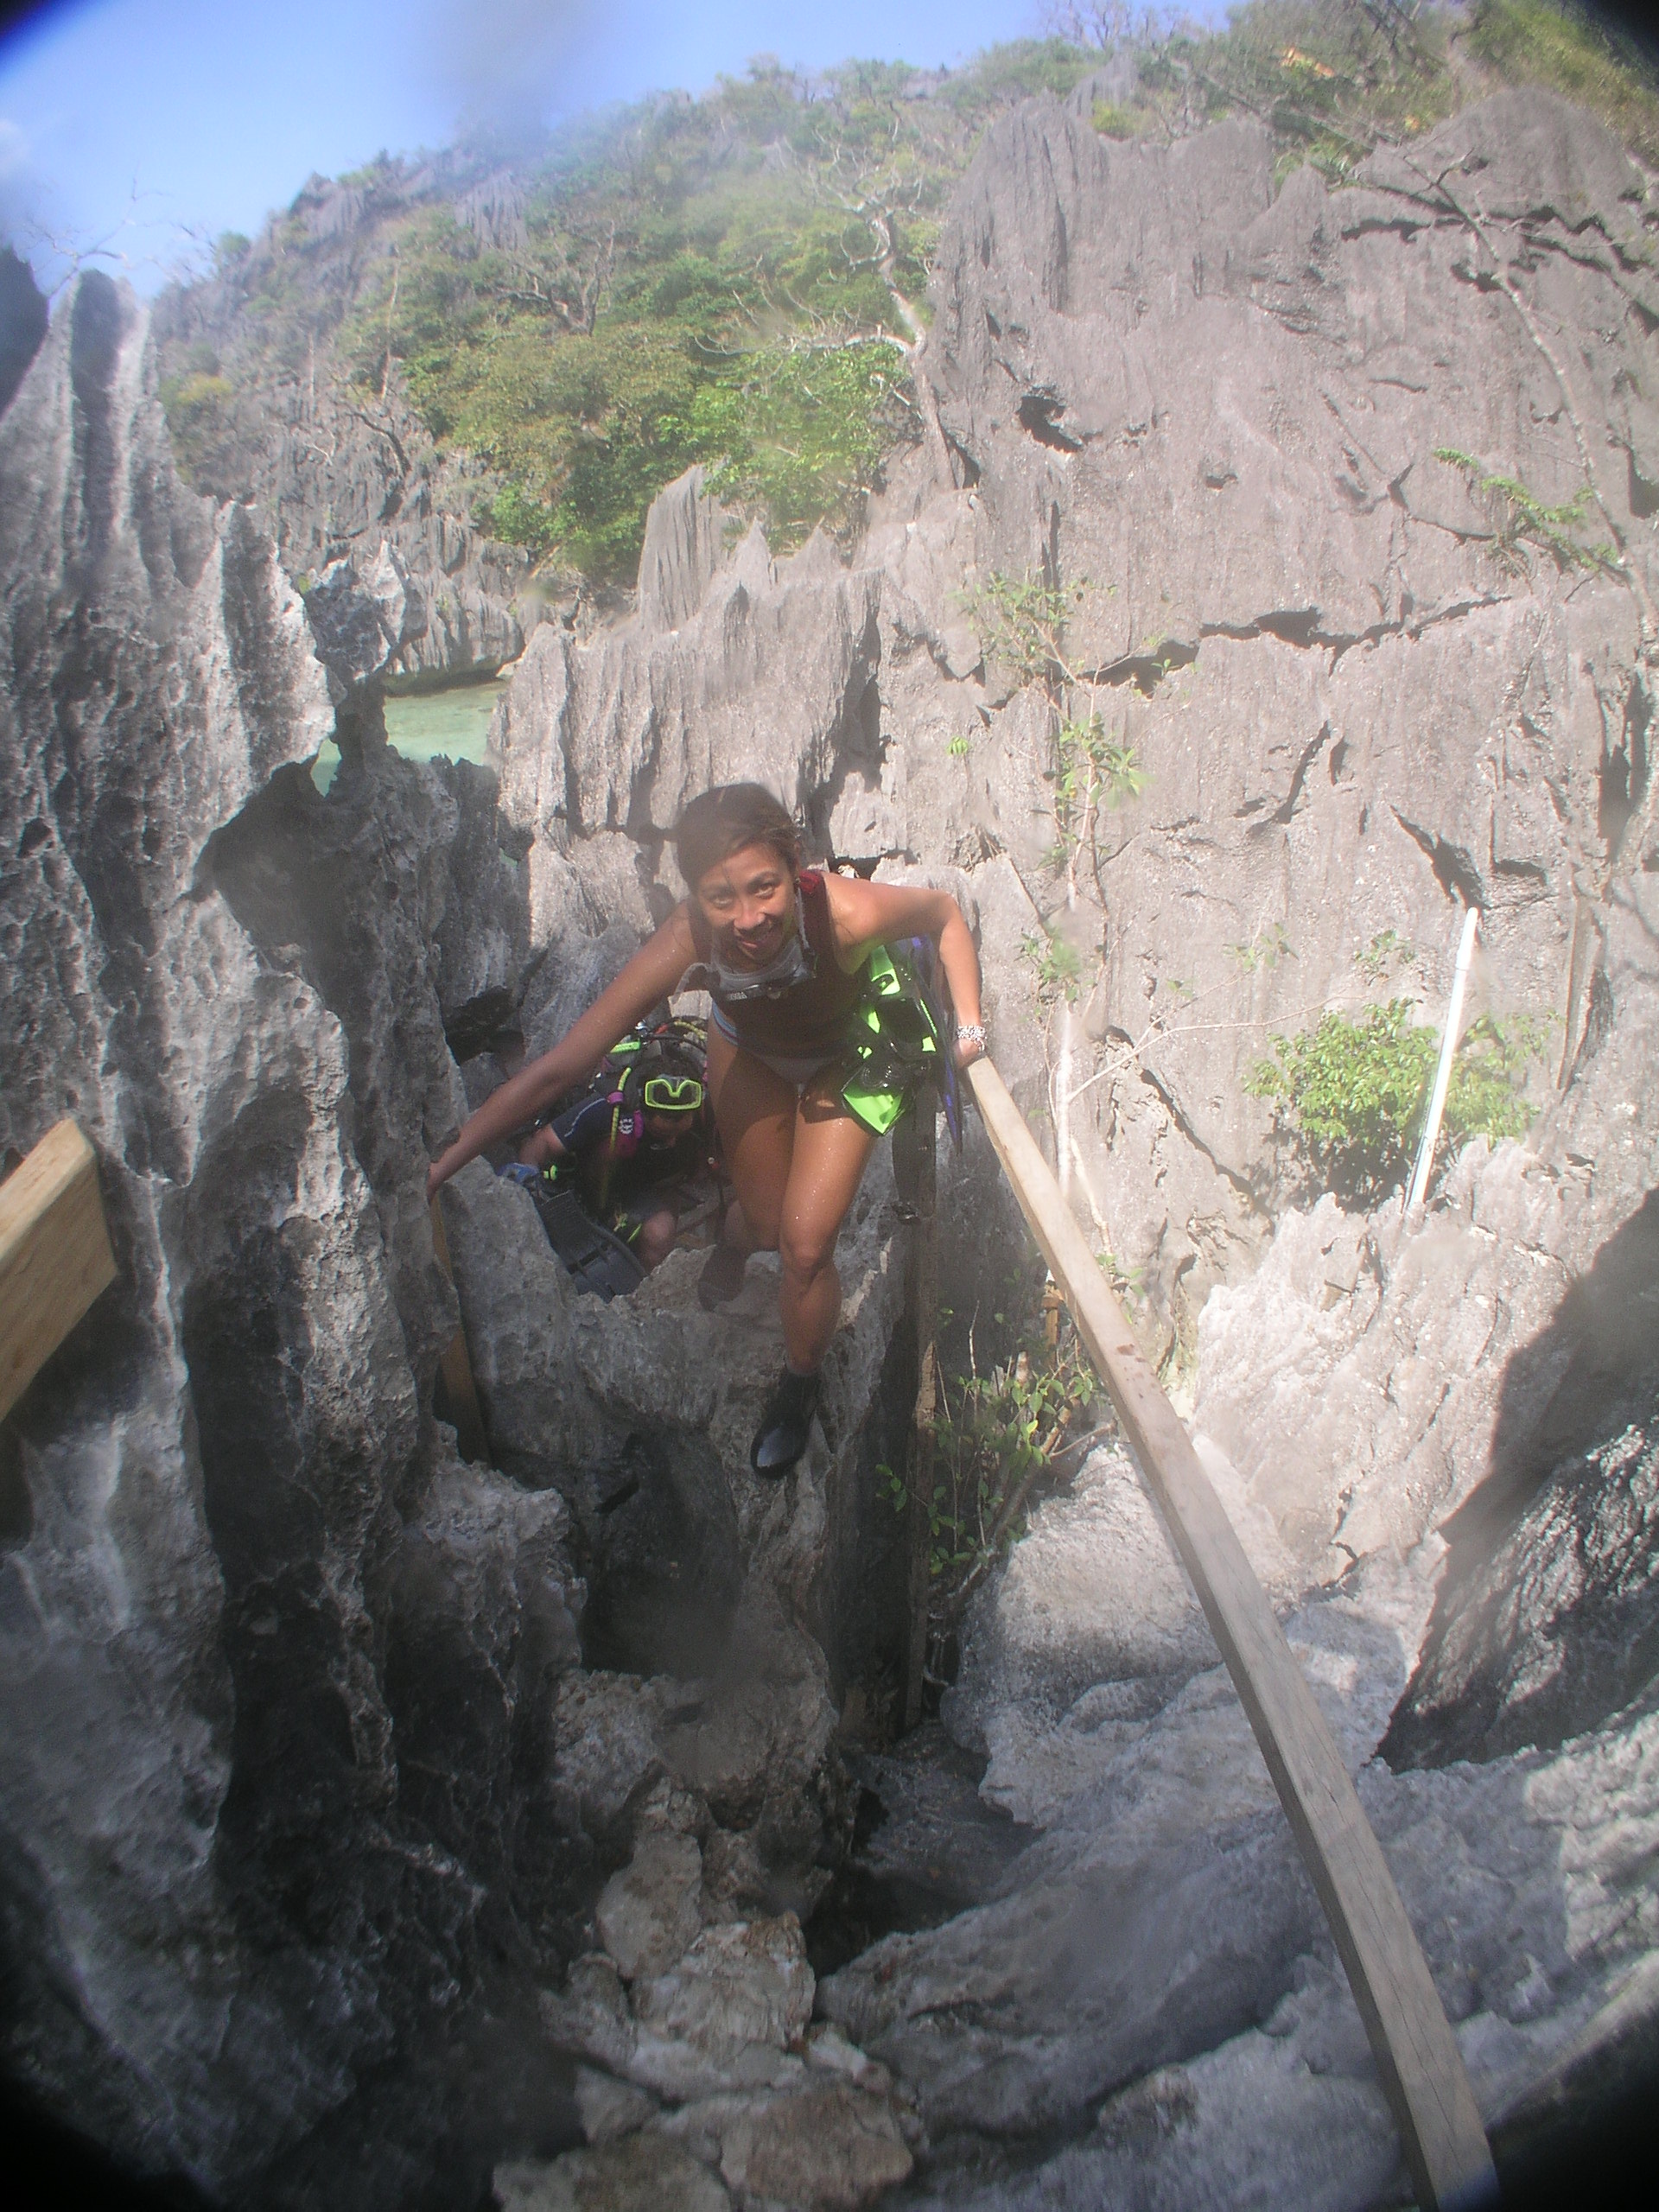
[[[785,807],[759,783],[692,799],[675,830],[690,885],[661,929],[551,1053],[502,1084],[427,1177],[456,1168],[586,1082],[659,1000],[701,967],[714,1000],[708,1082],[737,1203],[699,1283],[706,1307],[737,1296],[750,1252],[783,1261],[785,1369],[761,1416],[750,1464],[783,1475],[807,1449],[818,1367],[841,1316],[834,1252],[876,1141],[854,1115],[852,1060],[872,958],[911,936],[938,945],[958,1013],[956,1064],[984,1051],[980,960],[949,891],[863,883],[801,867]]]

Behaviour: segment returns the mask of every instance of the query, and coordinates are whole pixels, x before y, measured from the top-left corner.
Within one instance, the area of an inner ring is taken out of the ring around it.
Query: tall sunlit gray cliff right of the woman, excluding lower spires
[[[1659,420],[1619,376],[1648,343],[1644,296],[1615,243],[1579,261],[1573,237],[1595,206],[1599,237],[1635,241],[1644,184],[1540,95],[1389,161],[1334,197],[1301,170],[1272,199],[1248,126],[1159,153],[1031,106],[991,133],[942,246],[929,356],[980,476],[980,573],[1046,560],[1079,584],[1079,695],[1150,776],[1104,816],[1066,925],[1104,962],[1075,1135],[1113,1250],[1166,1298],[1183,1281],[1188,1323],[1256,1234],[1239,1075],[1272,1026],[1365,995],[1354,960],[1385,927],[1418,947],[1438,1011],[1460,889],[1484,909],[1480,1004],[1566,1011],[1571,1060],[1573,947],[1613,927],[1577,898],[1617,843],[1604,792],[1648,712],[1630,469]],[[1475,179],[1462,197],[1431,184],[1449,164]],[[1464,276],[1493,254],[1520,310]],[[1573,354],[1568,394],[1528,303],[1613,332]],[[1546,500],[1577,491],[1588,451],[1635,584],[1586,588],[1537,551],[1506,575],[1502,518],[1436,447]]]

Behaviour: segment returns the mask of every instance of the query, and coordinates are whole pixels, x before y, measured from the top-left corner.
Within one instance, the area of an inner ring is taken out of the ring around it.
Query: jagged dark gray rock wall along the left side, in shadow
[[[354,2185],[405,2203],[431,2004],[453,2084],[484,1960],[557,1955],[513,1867],[553,1874],[526,1750],[580,1610],[560,1500],[422,1411],[456,807],[394,761],[316,796],[303,608],[175,482],[102,276],[0,422],[0,1133],[77,1117],[119,1265],[7,1422],[7,2068],[139,2170],[323,2203],[400,2053]]]

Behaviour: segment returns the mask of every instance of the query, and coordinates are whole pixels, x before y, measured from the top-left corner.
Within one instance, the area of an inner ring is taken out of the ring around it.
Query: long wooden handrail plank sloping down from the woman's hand
[[[1493,2203],[1498,2174],[1458,2039],[1343,1754],[1006,1084],[989,1060],[969,1068],[969,1082],[1256,1732],[1347,1969],[1418,2201],[1447,2212]]]

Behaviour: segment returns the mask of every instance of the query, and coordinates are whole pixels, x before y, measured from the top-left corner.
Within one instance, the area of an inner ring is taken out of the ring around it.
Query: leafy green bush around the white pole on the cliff
[[[1325,1013],[1298,1037],[1274,1035],[1274,1057],[1245,1075],[1245,1093],[1274,1102],[1303,1164],[1347,1206],[1376,1206],[1411,1170],[1440,1053],[1438,1033],[1413,1013],[1407,998],[1367,1006],[1358,1020]],[[1533,1108],[1522,1088],[1548,1026],[1528,1015],[1471,1024],[1442,1117],[1453,1146],[1526,1133]]]

